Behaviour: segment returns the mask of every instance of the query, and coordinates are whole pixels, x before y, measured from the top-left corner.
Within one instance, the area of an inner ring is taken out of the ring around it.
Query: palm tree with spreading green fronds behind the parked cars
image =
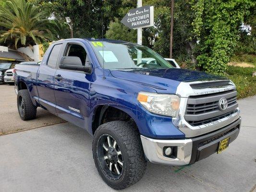
[[[49,14],[25,0],[6,0],[0,6],[0,42],[9,46],[33,46],[54,38]]]

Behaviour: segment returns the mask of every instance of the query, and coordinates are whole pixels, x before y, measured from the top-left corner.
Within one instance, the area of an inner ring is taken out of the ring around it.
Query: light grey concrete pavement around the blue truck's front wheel
[[[256,96],[239,101],[242,128],[223,153],[188,167],[149,163],[123,192],[256,191]],[[70,123],[0,136],[0,192],[111,192],[99,177],[91,136]]]

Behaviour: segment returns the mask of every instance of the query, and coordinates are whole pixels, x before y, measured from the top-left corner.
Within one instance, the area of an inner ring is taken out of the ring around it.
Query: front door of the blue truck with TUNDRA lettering
[[[79,41],[72,41],[63,45],[61,56],[79,57],[82,65],[91,63],[85,45],[79,44]],[[58,68],[55,75],[60,77],[60,79],[55,79],[54,91],[58,116],[87,129],[92,74]]]

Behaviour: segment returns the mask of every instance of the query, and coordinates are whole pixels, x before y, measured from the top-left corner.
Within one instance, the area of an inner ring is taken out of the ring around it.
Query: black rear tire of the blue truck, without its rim
[[[20,99],[23,99],[24,102],[24,110],[21,111],[21,103]],[[37,116],[37,107],[32,103],[29,92],[27,89],[19,90],[17,95],[17,107],[20,118],[22,120],[33,120]]]

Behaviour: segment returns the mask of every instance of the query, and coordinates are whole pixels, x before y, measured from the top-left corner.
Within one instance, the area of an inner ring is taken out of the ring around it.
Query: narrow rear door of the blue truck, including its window
[[[54,76],[62,43],[54,45],[45,54],[37,72],[37,91],[39,103],[49,112],[56,114],[56,101],[54,96]],[[48,56],[48,57],[47,57]]]

